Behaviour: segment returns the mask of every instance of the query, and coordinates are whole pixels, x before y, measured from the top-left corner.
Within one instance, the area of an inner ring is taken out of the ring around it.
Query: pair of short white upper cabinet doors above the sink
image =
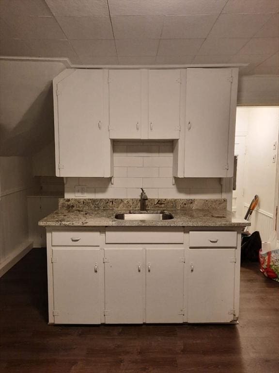
[[[109,70],[109,137],[180,135],[181,70]]]

